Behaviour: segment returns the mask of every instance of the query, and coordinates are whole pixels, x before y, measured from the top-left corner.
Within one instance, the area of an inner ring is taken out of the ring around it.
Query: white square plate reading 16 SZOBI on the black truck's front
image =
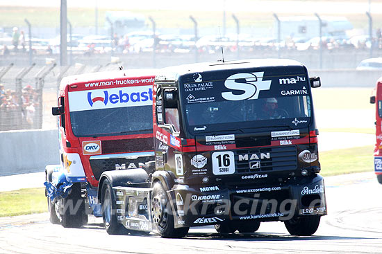
[[[235,156],[231,151],[214,152],[212,156],[213,174],[235,173]]]

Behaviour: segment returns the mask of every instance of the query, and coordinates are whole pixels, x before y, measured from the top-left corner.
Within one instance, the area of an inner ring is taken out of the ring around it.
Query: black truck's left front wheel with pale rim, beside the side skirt
[[[174,228],[174,215],[169,211],[169,199],[161,183],[153,186],[151,215],[158,233],[164,238],[181,238],[189,228]],[[171,210],[171,209],[170,209]]]

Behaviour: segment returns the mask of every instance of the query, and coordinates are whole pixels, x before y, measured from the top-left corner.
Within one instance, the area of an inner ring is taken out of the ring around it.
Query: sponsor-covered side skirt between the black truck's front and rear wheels
[[[113,187],[117,221],[129,230],[151,232],[151,188]]]

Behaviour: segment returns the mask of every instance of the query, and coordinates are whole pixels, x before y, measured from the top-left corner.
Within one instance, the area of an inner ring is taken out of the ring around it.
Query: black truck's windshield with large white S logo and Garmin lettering
[[[310,87],[304,74],[269,75],[264,72],[225,74],[228,78],[204,81],[194,74],[180,91],[191,134],[257,127],[297,129],[310,123]],[[183,93],[183,95],[182,95]]]

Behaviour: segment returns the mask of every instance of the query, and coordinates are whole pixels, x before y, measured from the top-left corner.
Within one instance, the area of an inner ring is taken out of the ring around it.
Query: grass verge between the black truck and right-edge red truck
[[[320,152],[321,174],[334,176],[372,171],[374,169],[373,154],[373,145]]]

